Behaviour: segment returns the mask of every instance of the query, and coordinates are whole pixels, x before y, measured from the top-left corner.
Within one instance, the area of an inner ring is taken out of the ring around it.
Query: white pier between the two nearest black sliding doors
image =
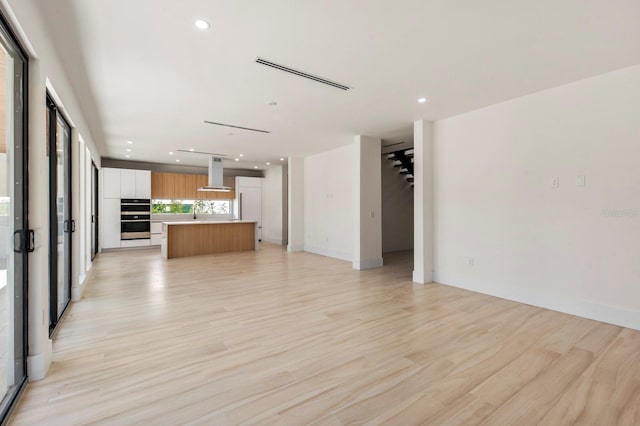
[[[46,152],[46,82],[38,60],[29,62],[29,380],[43,379],[53,352],[49,339],[49,158]]]

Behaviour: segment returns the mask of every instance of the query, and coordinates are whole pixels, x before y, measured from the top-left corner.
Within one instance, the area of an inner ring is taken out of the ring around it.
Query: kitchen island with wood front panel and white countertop
[[[173,259],[258,250],[256,227],[254,220],[163,222],[162,256]]]

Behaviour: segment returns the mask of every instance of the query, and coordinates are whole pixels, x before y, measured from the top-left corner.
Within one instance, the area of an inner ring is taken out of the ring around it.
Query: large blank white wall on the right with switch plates
[[[634,66],[437,122],[436,281],[640,329],[639,117]]]

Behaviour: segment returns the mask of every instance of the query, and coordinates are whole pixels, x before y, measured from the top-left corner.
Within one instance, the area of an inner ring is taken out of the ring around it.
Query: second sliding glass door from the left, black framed
[[[49,330],[71,301],[71,127],[47,96],[49,141]]]

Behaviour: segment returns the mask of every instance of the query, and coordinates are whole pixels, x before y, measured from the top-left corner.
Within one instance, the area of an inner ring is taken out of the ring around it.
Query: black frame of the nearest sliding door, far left
[[[13,389],[8,390],[5,395],[6,405],[3,405],[0,410],[0,423],[4,422],[11,415],[11,412],[16,406],[16,402],[19,396],[24,391],[27,384],[27,356],[29,354],[29,253],[33,252],[33,230],[29,229],[29,56],[27,52],[22,48],[16,33],[10,25],[9,21],[5,18],[4,14],[0,12],[0,36],[10,44],[15,56],[22,61],[21,74],[22,78],[15,78],[15,88],[20,87],[21,96],[15,97],[15,101],[20,104],[22,111],[21,114],[14,117],[14,126],[16,119],[20,118],[21,125],[14,127],[16,139],[20,140],[20,149],[22,150],[22,173],[17,176],[22,181],[22,208],[18,211],[18,214],[23,218],[22,229],[15,229],[14,237],[18,237],[18,243],[16,239],[13,240],[13,250],[15,256],[20,256],[22,263],[22,294],[19,296],[22,298],[21,303],[14,301],[16,308],[21,308],[21,318],[14,317],[14,335],[21,333],[22,344],[16,348],[21,352],[22,368],[16,370],[22,374],[22,378],[17,380]],[[9,93],[7,93],[9,96]],[[15,96],[11,94],[11,96]],[[15,143],[16,140],[13,141]],[[9,284],[9,283],[7,283]],[[17,296],[18,297],[18,296]],[[17,362],[17,361],[16,361]],[[0,399],[2,399],[0,397]]]

